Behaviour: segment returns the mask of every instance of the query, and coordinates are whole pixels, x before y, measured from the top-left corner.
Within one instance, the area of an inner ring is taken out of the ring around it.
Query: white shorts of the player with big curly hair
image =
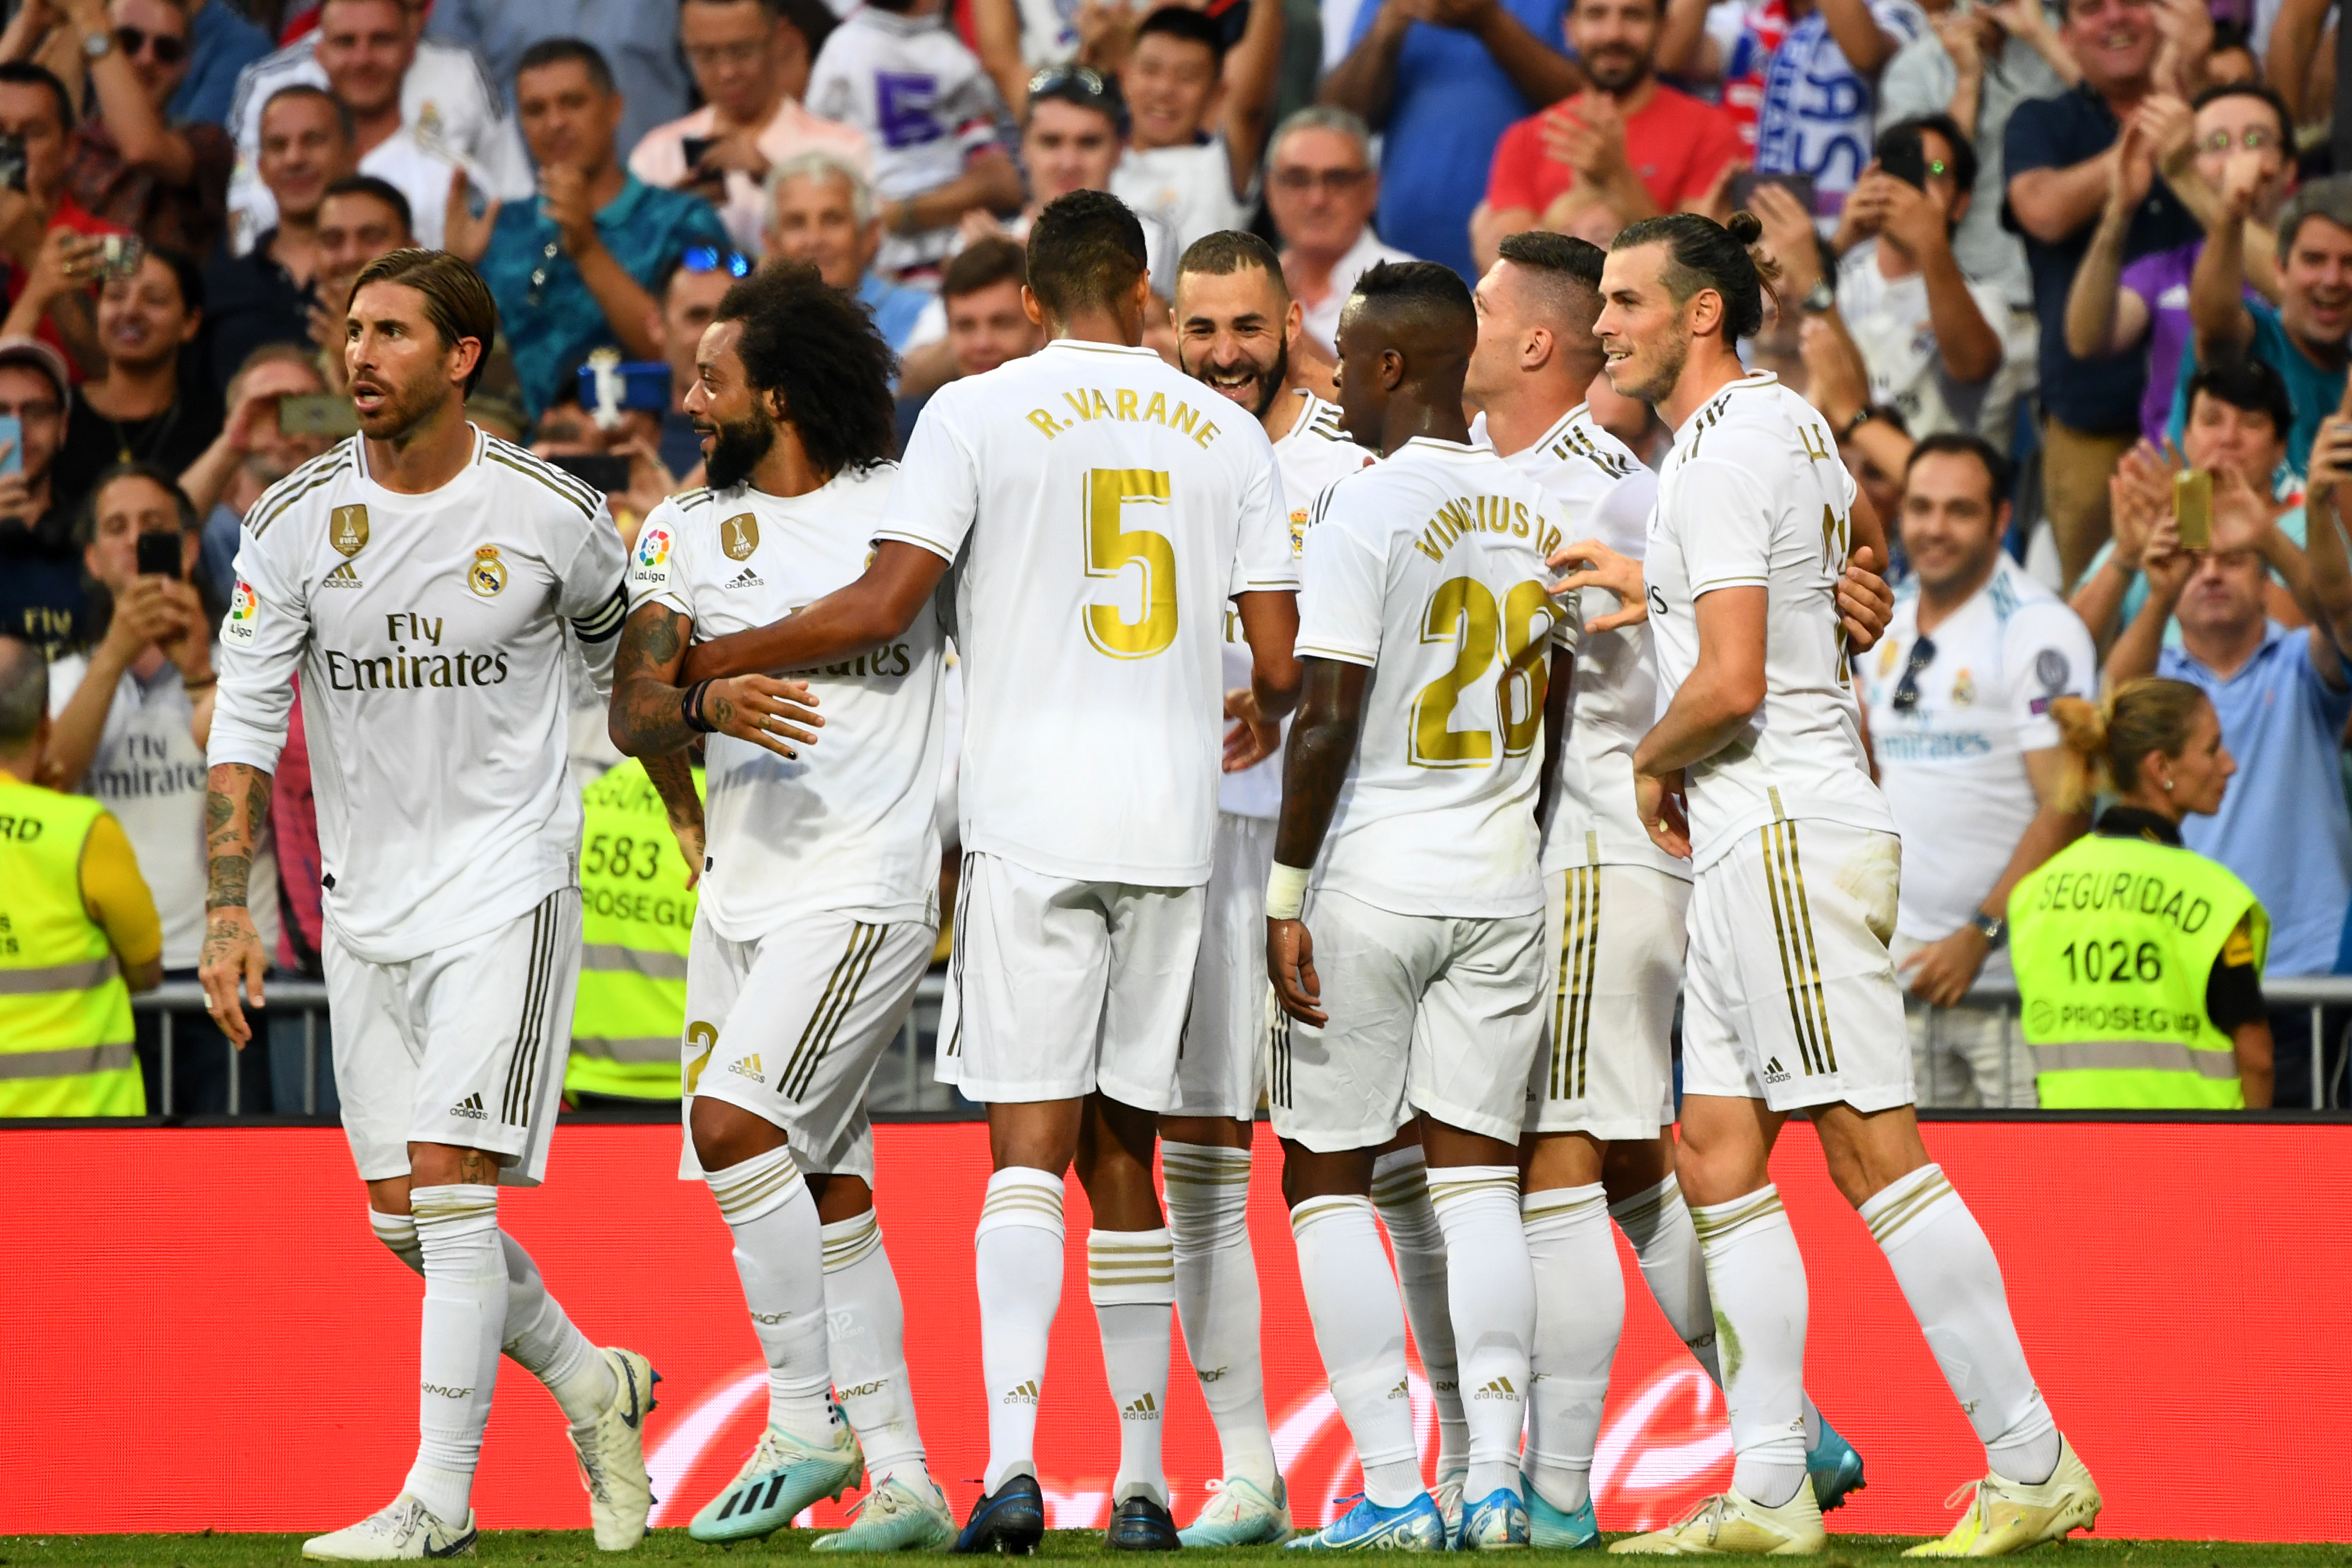
[[[870,1185],[866,1088],[936,943],[929,919],[849,910],[809,910],[755,943],[731,943],[699,914],[687,945],[682,1126],[691,1128],[696,1095],[727,1100],[783,1128],[802,1171]],[[677,1173],[703,1175],[691,1131]]]

